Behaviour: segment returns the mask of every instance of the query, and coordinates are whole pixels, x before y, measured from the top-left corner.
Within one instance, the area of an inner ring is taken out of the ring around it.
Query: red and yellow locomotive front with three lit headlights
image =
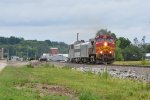
[[[114,60],[115,43],[110,35],[99,35],[96,40],[96,59],[103,62]]]

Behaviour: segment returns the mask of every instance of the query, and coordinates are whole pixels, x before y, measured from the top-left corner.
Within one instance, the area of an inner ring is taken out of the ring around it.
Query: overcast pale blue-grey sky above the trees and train
[[[70,44],[101,28],[150,43],[150,0],[0,0],[0,36]]]

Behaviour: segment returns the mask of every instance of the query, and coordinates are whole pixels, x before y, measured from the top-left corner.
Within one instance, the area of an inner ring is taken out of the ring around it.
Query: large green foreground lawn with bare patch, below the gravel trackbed
[[[150,100],[145,83],[106,79],[105,74],[83,73],[68,66],[8,66],[0,72],[0,100]],[[52,91],[51,86],[63,88]]]

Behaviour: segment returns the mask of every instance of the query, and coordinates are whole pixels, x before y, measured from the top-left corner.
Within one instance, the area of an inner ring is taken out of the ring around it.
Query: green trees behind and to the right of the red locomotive
[[[142,38],[142,42],[139,42],[135,37],[133,43],[125,37],[117,37],[115,33],[108,31],[107,29],[100,29],[96,36],[99,34],[110,34],[115,39],[115,59],[117,61],[138,61],[145,59],[145,54],[150,53],[150,44],[145,43],[145,36]]]

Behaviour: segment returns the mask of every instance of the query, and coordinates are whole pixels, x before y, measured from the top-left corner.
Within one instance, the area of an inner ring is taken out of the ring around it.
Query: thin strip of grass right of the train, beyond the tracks
[[[147,61],[147,60],[142,60],[142,61],[115,61],[113,64],[115,64],[115,65],[150,66],[150,61]]]

